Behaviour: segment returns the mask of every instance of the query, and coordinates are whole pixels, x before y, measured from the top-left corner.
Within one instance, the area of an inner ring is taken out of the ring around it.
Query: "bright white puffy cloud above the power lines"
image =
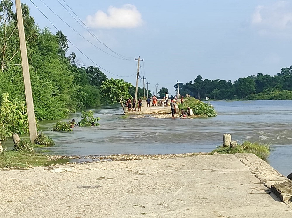
[[[143,24],[143,19],[136,6],[125,4],[121,8],[109,6],[107,13],[98,10],[95,15],[88,15],[86,24],[92,28],[135,28]]]

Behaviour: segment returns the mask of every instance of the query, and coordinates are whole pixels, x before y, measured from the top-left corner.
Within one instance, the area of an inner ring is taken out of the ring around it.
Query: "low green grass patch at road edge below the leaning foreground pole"
[[[0,168],[20,167],[28,168],[33,166],[47,166],[51,164],[66,163],[67,159],[58,161],[49,160],[48,156],[23,151],[8,151],[0,154]]]

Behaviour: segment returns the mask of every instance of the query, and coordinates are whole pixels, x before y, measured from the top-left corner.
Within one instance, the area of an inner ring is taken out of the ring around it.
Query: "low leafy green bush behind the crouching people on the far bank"
[[[195,98],[187,98],[183,104],[178,104],[178,108],[180,110],[184,109],[187,111],[187,107],[190,107],[193,110],[193,113],[197,115],[205,115],[207,117],[217,116],[217,113],[212,105]]]

